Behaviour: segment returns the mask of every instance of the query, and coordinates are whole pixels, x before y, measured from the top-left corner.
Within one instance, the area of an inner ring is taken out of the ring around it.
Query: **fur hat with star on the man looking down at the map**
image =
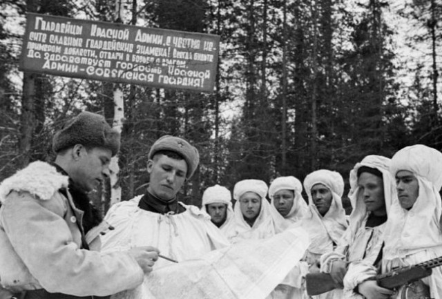
[[[149,151],[148,159],[151,160],[157,151],[173,151],[182,155],[184,160],[186,160],[186,177],[188,179],[192,177],[198,167],[198,163],[200,163],[200,154],[198,153],[198,150],[180,137],[164,135],[157,139],[151,147],[151,151]]]

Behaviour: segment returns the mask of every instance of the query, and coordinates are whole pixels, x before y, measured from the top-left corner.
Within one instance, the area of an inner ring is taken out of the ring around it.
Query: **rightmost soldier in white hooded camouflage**
[[[441,169],[442,153],[421,144],[407,146],[392,157],[390,172],[396,178],[397,196],[385,227],[383,272],[442,256]],[[366,272],[374,276],[376,269],[369,267]],[[414,289],[426,288],[430,298],[442,298],[441,267],[414,283]],[[383,298],[383,288],[375,280],[362,282],[358,289],[366,298]]]

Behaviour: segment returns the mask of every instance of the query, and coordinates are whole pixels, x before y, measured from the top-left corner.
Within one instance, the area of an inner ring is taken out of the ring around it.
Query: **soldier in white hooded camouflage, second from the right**
[[[355,292],[356,287],[371,274],[358,266],[380,261],[387,213],[396,194],[389,167],[390,159],[369,155],[350,171],[349,198],[353,211],[349,227],[336,249],[320,258],[321,271],[330,273],[334,282],[344,287],[344,296],[339,298],[361,298]]]

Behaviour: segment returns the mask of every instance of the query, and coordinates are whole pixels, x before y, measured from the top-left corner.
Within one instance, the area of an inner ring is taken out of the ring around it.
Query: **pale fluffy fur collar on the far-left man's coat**
[[[59,189],[68,186],[68,180],[69,177],[58,173],[54,166],[41,161],[32,162],[1,182],[0,202],[11,191],[26,191],[40,200],[50,200]]]

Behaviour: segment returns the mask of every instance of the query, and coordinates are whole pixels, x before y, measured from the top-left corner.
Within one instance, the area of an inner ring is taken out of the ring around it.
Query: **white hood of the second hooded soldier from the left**
[[[253,226],[250,227],[244,220],[240,207],[240,197],[247,192],[253,192],[261,197],[261,208]],[[267,201],[267,184],[262,180],[242,180],[236,183],[233,188],[233,198],[237,200],[235,204],[235,230],[238,239],[264,239],[269,238],[282,231],[282,217],[278,211]]]

